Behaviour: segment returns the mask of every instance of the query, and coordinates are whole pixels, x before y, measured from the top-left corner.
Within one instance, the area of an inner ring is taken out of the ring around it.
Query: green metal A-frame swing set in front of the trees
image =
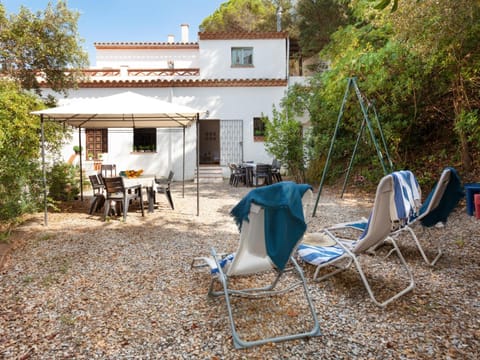
[[[342,194],[340,195],[340,197],[343,197],[343,193],[345,192],[345,188],[347,186],[347,181],[348,181],[348,178],[350,176],[350,171],[352,170],[353,161],[355,159],[355,155],[357,153],[357,149],[358,149],[358,145],[360,143],[361,137],[362,137],[363,132],[365,130],[365,126],[367,126],[367,128],[368,128],[368,132],[370,133],[370,137],[372,139],[373,145],[375,146],[375,150],[377,152],[378,159],[380,160],[380,164],[382,166],[383,173],[385,175],[387,175],[389,172],[393,171],[393,163],[392,163],[392,160],[391,160],[390,155],[388,153],[387,143],[386,143],[385,137],[383,135],[383,130],[382,130],[382,127],[380,125],[380,120],[378,119],[378,116],[377,116],[377,111],[375,109],[375,105],[372,102],[368,101],[368,99],[362,95],[362,93],[360,92],[360,89],[358,88],[357,79],[355,77],[349,77],[347,80],[348,80],[347,88],[346,88],[345,94],[343,96],[342,106],[340,107],[340,111],[338,113],[337,123],[335,124],[335,130],[333,132],[332,140],[330,142],[330,148],[328,150],[327,160],[325,161],[325,166],[323,167],[322,179],[320,180],[320,186],[318,188],[317,200],[315,201],[315,206],[313,207],[313,214],[312,214],[313,217],[315,217],[315,214],[317,212],[318,201],[320,200],[320,195],[322,193],[323,183],[325,182],[325,178],[327,176],[328,167],[330,165],[330,159],[332,157],[333,148],[334,148],[334,145],[335,145],[335,140],[337,138],[338,128],[340,127],[340,123],[341,123],[341,120],[343,118],[343,112],[344,112],[345,105],[346,105],[347,100],[348,100],[348,95],[350,93],[350,88],[353,87],[353,89],[355,90],[358,102],[360,104],[360,108],[362,110],[363,120],[362,120],[362,124],[360,126],[360,130],[358,131],[357,141],[355,142],[355,146],[353,148],[353,153],[352,153],[352,157],[350,158],[350,163],[348,164],[347,173],[345,175],[345,180],[343,182]],[[367,105],[365,105],[365,102],[367,103]],[[375,125],[377,126],[378,133],[380,134],[383,149],[380,147],[379,142],[377,141],[377,138],[375,136],[373,126],[372,126],[372,122],[370,121],[370,117],[368,115],[370,110],[372,110],[372,112],[374,114]],[[385,157],[387,158],[388,168],[385,165],[383,153],[385,153]]]

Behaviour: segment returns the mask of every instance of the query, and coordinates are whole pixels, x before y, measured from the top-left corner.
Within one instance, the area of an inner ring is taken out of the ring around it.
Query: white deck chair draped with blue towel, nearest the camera
[[[212,248],[211,257],[195,258],[192,262],[193,268],[206,265],[210,267],[212,278],[208,295],[225,296],[233,342],[237,349],[320,335],[320,326],[305,277],[292,257],[306,229],[302,200],[308,202],[311,198],[312,192],[308,185],[292,182],[277,183],[250,191],[231,212],[240,227],[237,251],[221,257]],[[295,274],[296,280],[290,281],[285,287],[282,280],[286,277],[286,271]],[[263,273],[274,274],[273,281],[268,286],[246,289],[233,287],[236,278],[248,277],[255,282],[255,277]],[[223,290],[215,290],[218,283]],[[248,299],[280,295],[300,285],[303,286],[311,313],[311,330],[258,340],[240,338],[233,317],[231,296],[238,295]]]

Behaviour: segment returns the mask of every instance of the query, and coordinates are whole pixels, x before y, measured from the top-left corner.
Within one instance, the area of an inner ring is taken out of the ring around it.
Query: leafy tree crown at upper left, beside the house
[[[77,33],[78,17],[66,1],[48,3],[35,14],[22,6],[10,16],[0,3],[0,72],[20,81],[24,89],[38,90],[38,75],[54,91],[75,87],[80,70],[88,65]]]

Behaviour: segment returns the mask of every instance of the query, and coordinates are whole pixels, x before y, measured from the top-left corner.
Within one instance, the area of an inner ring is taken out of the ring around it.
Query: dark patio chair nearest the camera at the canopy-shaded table
[[[111,202],[120,203],[123,211],[123,221],[127,221],[127,213],[130,202],[137,200],[142,211],[142,216],[145,216],[143,210],[142,200],[142,185],[125,186],[123,183],[123,177],[105,177],[103,178],[105,184],[106,198],[105,198],[105,213],[103,220],[105,221],[107,215],[110,213]]]

